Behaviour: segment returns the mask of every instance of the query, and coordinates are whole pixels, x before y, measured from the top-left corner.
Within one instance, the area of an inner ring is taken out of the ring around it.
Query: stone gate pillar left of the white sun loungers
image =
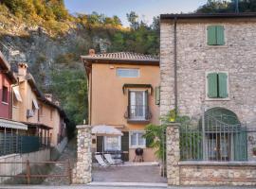
[[[92,181],[91,126],[77,126],[78,160],[73,169],[72,183],[86,184]]]

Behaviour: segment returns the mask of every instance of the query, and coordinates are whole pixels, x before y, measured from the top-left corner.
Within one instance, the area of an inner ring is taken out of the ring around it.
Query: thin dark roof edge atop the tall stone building
[[[161,14],[160,19],[223,19],[223,18],[256,18],[256,12],[243,13],[191,13]]]

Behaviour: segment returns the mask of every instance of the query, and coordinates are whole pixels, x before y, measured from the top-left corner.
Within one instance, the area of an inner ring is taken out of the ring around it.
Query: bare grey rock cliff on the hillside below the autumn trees
[[[98,51],[104,52],[110,45],[107,35],[98,36],[79,26],[76,29],[70,28],[62,36],[55,37],[39,26],[27,27],[21,24],[5,28],[6,32],[0,28],[0,50],[13,67],[19,61],[26,61],[29,71],[37,82],[41,82],[40,84],[50,81],[49,71],[53,67],[64,67],[66,64],[73,67],[82,65],[79,57],[82,54],[86,55],[89,48],[98,48]],[[22,35],[22,32],[26,32],[25,35]],[[9,49],[18,50],[19,54],[11,56]]]

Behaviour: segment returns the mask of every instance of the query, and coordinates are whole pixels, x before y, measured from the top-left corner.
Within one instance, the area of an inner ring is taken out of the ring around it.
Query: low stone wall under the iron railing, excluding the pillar
[[[181,185],[256,185],[256,163],[179,163]]]

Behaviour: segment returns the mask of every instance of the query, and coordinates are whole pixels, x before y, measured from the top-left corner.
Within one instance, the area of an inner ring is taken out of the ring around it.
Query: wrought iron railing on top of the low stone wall
[[[229,125],[210,115],[204,126],[180,128],[182,161],[247,161],[247,127]]]

